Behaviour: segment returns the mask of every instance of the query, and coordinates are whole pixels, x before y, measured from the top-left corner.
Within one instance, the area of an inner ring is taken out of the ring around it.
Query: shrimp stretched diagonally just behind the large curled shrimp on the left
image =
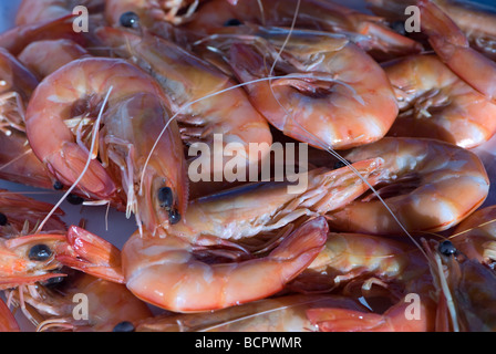
[[[230,77],[158,37],[142,38],[112,28],[99,29],[96,34],[113,51],[148,71],[161,83],[170,97],[170,110],[178,121],[183,140],[192,147],[207,144],[208,149],[203,149],[195,159],[211,166],[213,176],[224,171],[229,160],[224,149],[229,144],[242,147],[237,150],[237,158],[245,162],[246,170],[267,157],[272,143],[269,125]],[[223,137],[223,149],[214,147],[216,135]],[[251,144],[261,146],[260,154],[249,154]],[[224,163],[217,167],[215,160]]]

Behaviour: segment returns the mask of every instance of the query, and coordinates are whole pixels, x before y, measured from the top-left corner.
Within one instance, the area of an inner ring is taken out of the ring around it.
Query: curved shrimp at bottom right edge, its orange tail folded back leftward
[[[435,288],[430,270],[424,254],[411,244],[368,235],[331,232],[324,250],[306,272],[322,272],[319,279],[330,277],[335,285],[362,279],[362,291],[370,291],[373,284],[391,287],[393,299],[399,300],[384,313],[326,306],[309,309],[307,315],[324,332],[433,331],[437,299],[431,295]],[[300,277],[304,278],[306,272]],[[406,316],[411,294],[420,298],[414,317]]]

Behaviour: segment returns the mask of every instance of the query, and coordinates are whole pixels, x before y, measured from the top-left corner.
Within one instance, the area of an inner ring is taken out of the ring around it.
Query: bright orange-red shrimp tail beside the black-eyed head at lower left
[[[68,244],[56,253],[62,264],[116,283],[124,283],[121,250],[80,227],[71,226]]]

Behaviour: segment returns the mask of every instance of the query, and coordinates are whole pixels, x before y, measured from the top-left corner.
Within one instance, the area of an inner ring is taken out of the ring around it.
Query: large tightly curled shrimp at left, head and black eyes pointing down
[[[93,124],[101,110],[103,95],[108,92],[108,106],[102,121],[108,126],[102,134],[100,150],[104,163],[112,160],[115,165],[106,169],[102,163],[92,159],[78,187],[99,199],[116,199],[116,184],[123,174],[126,178],[122,179],[121,188],[127,197],[127,210],[140,212],[135,205],[138,189],[135,177],[142,171],[146,159],[142,154],[155,140],[170,115],[163,104],[168,98],[142,70],[124,60],[106,58],[85,58],[62,66],[40,83],[30,100],[25,116],[28,139],[34,154],[49,170],[62,184],[72,185],[80,178],[89,157],[83,129]],[[146,107],[144,104],[152,106]],[[138,129],[134,132],[136,134],[130,131],[132,128]],[[175,132],[178,136],[174,122],[169,122],[167,132],[172,132],[168,133],[170,137],[176,135]],[[178,210],[184,214],[186,209],[183,147],[176,142],[177,139],[164,139],[144,171],[147,189],[146,195],[142,194],[141,198],[146,202],[143,206],[146,212],[151,208],[161,208],[163,204],[156,201],[157,190],[149,195],[152,187],[169,189],[172,200],[166,206],[167,211]],[[167,149],[165,155],[157,156],[164,154],[164,148]],[[161,160],[163,156],[166,158]],[[169,162],[173,164],[166,166]],[[112,171],[117,174],[114,178],[111,176]],[[157,210],[157,214],[164,212]],[[167,212],[166,217],[161,222],[168,222]],[[140,220],[141,218],[137,219]],[[155,225],[148,222],[146,227],[154,232]]]

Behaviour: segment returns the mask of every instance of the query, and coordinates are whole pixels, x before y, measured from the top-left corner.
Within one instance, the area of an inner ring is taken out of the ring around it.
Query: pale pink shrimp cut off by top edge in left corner
[[[103,11],[104,0],[22,0],[16,15],[16,25],[71,15],[76,6],[84,6],[89,13],[94,14]]]

